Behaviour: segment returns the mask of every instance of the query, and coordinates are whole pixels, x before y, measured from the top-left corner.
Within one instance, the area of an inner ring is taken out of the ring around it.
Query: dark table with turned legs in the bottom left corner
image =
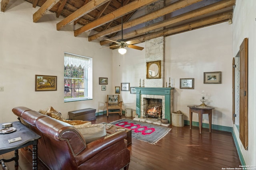
[[[2,124],[0,123],[0,129],[2,129]],[[11,159],[2,159],[0,160],[2,167],[4,168],[4,162],[10,162],[12,160],[15,161],[14,166],[18,166],[18,149],[27,147],[29,145],[33,145],[33,153],[32,153],[32,162],[33,162],[33,170],[37,170],[37,143],[38,139],[41,136],[34,133],[28,127],[20,123],[19,121],[12,122],[12,127],[16,128],[16,131],[12,133],[0,134],[0,155],[5,154],[7,152],[11,152],[14,150],[14,157]],[[13,143],[9,143],[9,139],[14,139],[17,137],[21,137],[21,141],[16,141]]]

